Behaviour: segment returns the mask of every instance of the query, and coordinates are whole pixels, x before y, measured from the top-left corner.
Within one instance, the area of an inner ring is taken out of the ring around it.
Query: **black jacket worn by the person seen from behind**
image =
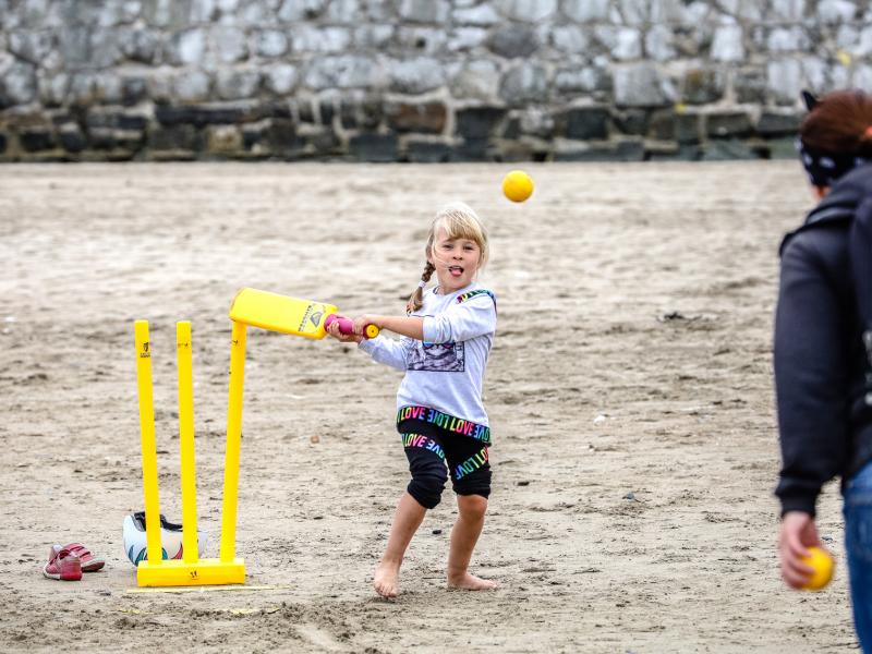
[[[851,222],[867,210],[872,166],[839,179],[782,243],[774,363],[783,462],[775,494],[783,513],[813,516],[824,483],[836,475],[844,483],[872,460],[867,354],[849,254]]]

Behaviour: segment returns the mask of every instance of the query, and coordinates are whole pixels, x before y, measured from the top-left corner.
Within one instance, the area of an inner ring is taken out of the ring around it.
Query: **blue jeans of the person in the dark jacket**
[[[872,654],[872,462],[846,485],[844,511],[853,625],[863,654]]]

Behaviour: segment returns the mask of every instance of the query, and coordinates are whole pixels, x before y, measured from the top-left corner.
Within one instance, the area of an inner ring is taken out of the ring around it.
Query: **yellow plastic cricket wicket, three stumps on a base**
[[[182,560],[165,560],[160,544],[160,506],[157,480],[157,447],[152,387],[148,323],[136,320],[136,379],[140,391],[140,429],[143,449],[145,531],[147,560],[136,568],[141,586],[221,585],[245,582],[245,565],[234,557],[237,492],[239,486],[242,391],[245,367],[245,326],[233,323],[230,350],[230,397],[225,458],[225,491],[221,517],[220,558],[201,559],[196,529],[196,468],[194,462],[194,400],[191,324],[177,324],[179,362],[179,437],[182,476]]]

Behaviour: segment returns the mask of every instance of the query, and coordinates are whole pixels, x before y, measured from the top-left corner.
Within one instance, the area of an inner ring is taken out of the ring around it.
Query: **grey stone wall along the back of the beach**
[[[794,156],[865,0],[0,0],[0,160]]]

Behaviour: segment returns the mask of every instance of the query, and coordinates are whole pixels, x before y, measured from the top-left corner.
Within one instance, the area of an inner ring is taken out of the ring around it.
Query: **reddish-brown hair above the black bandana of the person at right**
[[[872,157],[872,96],[862,90],[824,96],[810,107],[799,137],[819,153]]]

